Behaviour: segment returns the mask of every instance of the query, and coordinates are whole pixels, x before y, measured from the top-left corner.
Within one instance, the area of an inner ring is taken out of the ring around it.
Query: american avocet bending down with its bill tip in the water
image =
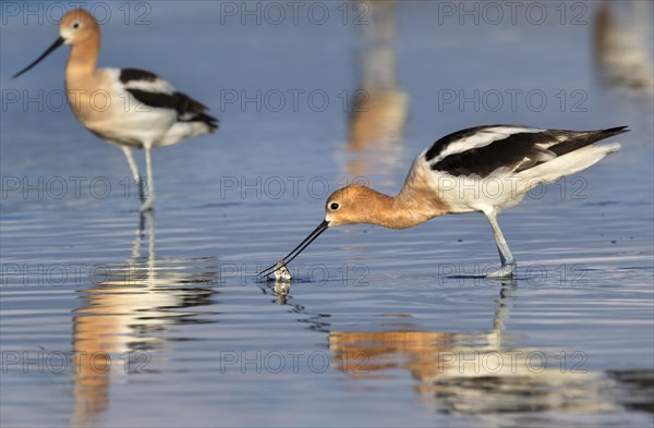
[[[477,211],[491,222],[501,260],[501,268],[488,277],[509,277],[516,261],[497,223],[497,213],[520,204],[532,187],[584,170],[617,151],[619,143],[594,143],[626,129],[562,131],[487,125],[449,134],[415,159],[396,196],[356,184],[334,192],[327,198],[325,220],[281,262],[293,260],[330,227],[371,223],[405,229],[437,216]]]

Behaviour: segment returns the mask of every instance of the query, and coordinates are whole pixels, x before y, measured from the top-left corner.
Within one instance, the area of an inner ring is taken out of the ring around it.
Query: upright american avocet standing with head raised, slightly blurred
[[[153,207],[155,188],[150,150],[184,138],[213,133],[218,127],[207,108],[154,73],[136,69],[96,69],[100,28],[85,10],[66,13],[59,24],[60,37],[20,76],[61,45],[71,45],[65,86],[71,108],[94,134],[120,147],[141,195],[141,211]],[[147,183],[144,184],[132,149],[145,149]],[[147,193],[147,195],[146,195]]]

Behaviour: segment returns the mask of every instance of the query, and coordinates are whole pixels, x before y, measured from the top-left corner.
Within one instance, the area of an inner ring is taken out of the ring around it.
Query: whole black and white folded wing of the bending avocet
[[[499,169],[524,171],[627,132],[626,127],[564,131],[520,125],[475,126],[444,136],[423,156],[433,171],[485,178]]]

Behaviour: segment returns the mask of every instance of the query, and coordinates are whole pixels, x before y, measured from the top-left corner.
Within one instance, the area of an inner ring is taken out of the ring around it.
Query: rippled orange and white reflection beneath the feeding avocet
[[[501,420],[506,426],[520,426],[522,412],[547,412],[552,417],[645,405],[654,380],[649,371],[629,376],[639,378],[641,387],[622,382],[617,372],[588,370],[583,352],[568,352],[561,360],[559,351],[511,347],[504,329],[514,292],[516,280],[502,284],[485,333],[331,331],[332,367],[354,381],[390,378],[405,369],[431,411],[474,415],[488,424]],[[410,323],[403,323],[407,327]],[[626,389],[634,390],[637,399],[626,398]]]

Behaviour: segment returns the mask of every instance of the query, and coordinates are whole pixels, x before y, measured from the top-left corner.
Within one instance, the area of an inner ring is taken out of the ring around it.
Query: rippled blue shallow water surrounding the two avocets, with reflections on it
[[[154,151],[143,217],[121,151],[58,98],[65,52],[10,80],[57,37],[56,11],[39,24],[15,4],[0,37],[2,426],[652,426],[651,82],[597,41],[602,13],[644,30],[619,39],[644,39],[651,70],[651,4],[537,3],[547,19],[513,24],[461,22],[458,2],[306,3],[328,17],[296,23],[256,2],[100,3],[100,66],[156,71],[220,119]],[[480,278],[499,260],[475,213],[337,228],[290,265],[290,290],[256,278],[330,192],[363,176],[392,194],[435,139],[491,123],[631,129],[499,217],[513,280]]]

